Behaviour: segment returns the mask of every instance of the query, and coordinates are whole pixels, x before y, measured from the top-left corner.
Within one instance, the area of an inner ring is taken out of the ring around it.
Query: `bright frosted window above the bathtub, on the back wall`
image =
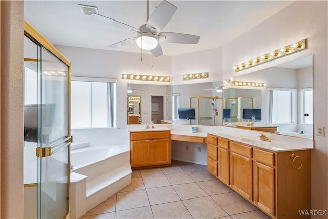
[[[71,127],[116,127],[116,80],[72,77]]]

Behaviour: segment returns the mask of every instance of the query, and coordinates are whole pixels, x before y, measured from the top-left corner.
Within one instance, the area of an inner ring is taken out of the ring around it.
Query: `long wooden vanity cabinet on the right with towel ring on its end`
[[[271,218],[309,218],[299,210],[311,209],[311,150],[272,151],[208,134],[208,170]]]

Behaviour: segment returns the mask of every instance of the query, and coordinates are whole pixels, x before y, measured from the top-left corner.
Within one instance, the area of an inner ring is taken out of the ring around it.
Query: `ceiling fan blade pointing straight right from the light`
[[[179,43],[179,44],[197,44],[200,36],[184,34],[184,33],[159,33],[158,41],[167,43]]]

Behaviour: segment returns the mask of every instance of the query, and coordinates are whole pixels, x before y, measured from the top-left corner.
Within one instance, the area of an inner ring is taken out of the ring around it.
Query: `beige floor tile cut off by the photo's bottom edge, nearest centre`
[[[151,206],[154,218],[192,218],[181,201]]]

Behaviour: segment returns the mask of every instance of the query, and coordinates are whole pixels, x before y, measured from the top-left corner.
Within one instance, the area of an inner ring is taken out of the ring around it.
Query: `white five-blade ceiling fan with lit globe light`
[[[97,18],[102,22],[106,22],[109,25],[116,26],[122,29],[135,32],[136,37],[124,39],[123,41],[109,45],[109,48],[117,48],[125,46],[136,41],[138,47],[150,52],[155,56],[163,55],[162,48],[159,42],[166,43],[180,43],[180,44],[197,44],[200,36],[184,34],[184,33],[172,33],[172,32],[160,32],[170,21],[174,15],[177,7],[168,1],[162,1],[155,11],[148,18],[149,0],[147,0],[147,22],[138,28],[121,23],[112,18],[100,15],[98,13],[91,13],[91,17]]]

